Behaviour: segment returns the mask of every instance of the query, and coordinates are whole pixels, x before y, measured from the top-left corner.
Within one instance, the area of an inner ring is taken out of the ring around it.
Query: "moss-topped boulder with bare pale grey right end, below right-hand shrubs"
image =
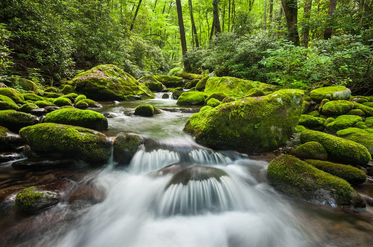
[[[323,99],[348,100],[351,97],[351,90],[344,86],[322,87],[312,90],[310,96],[317,103],[320,103]]]

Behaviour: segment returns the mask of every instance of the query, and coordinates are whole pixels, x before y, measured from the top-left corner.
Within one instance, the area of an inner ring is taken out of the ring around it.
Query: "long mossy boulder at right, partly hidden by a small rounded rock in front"
[[[301,142],[317,141],[328,153],[328,159],[348,165],[366,165],[372,158],[366,147],[354,141],[326,134],[320,131],[306,130],[300,135]]]

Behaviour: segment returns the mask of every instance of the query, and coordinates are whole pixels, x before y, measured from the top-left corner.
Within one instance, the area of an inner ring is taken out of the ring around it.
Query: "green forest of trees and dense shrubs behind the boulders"
[[[0,82],[111,63],[372,94],[372,24],[372,0],[3,0]]]

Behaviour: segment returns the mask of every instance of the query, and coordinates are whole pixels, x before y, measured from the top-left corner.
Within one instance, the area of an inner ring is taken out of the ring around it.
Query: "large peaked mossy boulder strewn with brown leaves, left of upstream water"
[[[115,65],[105,64],[82,72],[73,79],[75,90],[93,100],[145,100],[154,94]]]

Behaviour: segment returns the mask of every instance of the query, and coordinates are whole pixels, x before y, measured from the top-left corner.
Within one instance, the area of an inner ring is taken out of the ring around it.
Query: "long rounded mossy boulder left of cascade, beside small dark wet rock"
[[[106,135],[93,129],[43,123],[25,127],[19,134],[34,151],[60,152],[93,162],[108,157],[110,141]]]

